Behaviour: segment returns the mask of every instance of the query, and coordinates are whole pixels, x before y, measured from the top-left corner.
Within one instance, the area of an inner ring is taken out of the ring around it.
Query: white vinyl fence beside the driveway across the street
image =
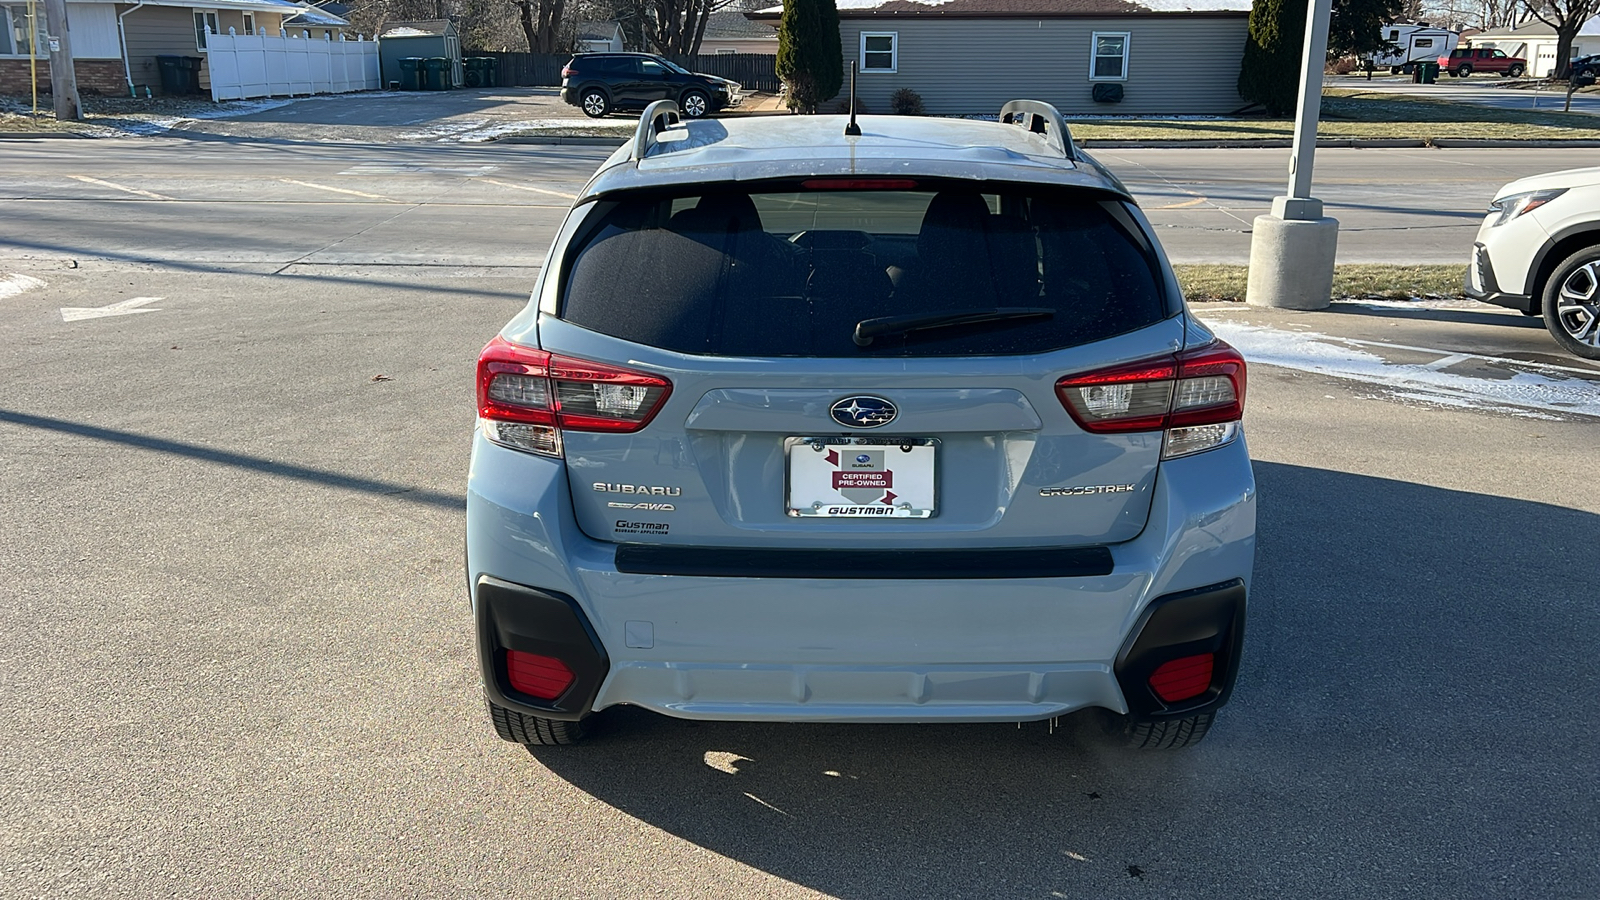
[[[211,99],[339,94],[381,86],[376,40],[232,32],[205,38]]]

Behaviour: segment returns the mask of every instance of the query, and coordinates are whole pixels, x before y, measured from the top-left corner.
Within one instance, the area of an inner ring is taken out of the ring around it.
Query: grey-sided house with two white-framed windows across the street
[[[778,27],[782,6],[747,16]],[[1066,115],[1224,115],[1245,106],[1248,19],[1250,0],[838,0],[845,90],[859,62],[867,110],[910,88],[934,115],[1018,96]]]

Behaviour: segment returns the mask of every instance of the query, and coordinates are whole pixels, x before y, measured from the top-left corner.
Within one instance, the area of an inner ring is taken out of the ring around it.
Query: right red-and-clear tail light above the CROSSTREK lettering
[[[1056,394],[1094,434],[1165,431],[1162,458],[1221,447],[1245,415],[1245,357],[1222,341],[1114,368],[1069,375]]]

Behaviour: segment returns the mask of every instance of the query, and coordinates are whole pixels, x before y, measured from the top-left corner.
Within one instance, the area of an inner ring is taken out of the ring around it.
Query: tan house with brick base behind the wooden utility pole
[[[0,93],[29,91],[29,56],[37,58],[38,83],[50,85],[45,46],[45,6],[37,5],[32,29],[27,5],[0,5]],[[78,91],[99,94],[162,93],[158,56],[200,59],[200,86],[210,90],[206,37],[232,29],[240,35],[283,30],[285,21],[307,8],[290,0],[142,0],[136,3],[83,0],[67,3],[72,24],[72,69]],[[338,27],[342,18],[320,13]],[[30,42],[29,32],[35,35]]]

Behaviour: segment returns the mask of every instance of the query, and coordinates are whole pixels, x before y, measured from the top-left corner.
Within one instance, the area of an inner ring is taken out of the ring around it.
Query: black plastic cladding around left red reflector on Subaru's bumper
[[[546,719],[576,721],[587,716],[611,660],[578,602],[565,594],[488,575],[478,578],[477,588],[478,658],[490,703]],[[510,687],[506,650],[555,657],[578,677],[555,700],[528,697]]]

